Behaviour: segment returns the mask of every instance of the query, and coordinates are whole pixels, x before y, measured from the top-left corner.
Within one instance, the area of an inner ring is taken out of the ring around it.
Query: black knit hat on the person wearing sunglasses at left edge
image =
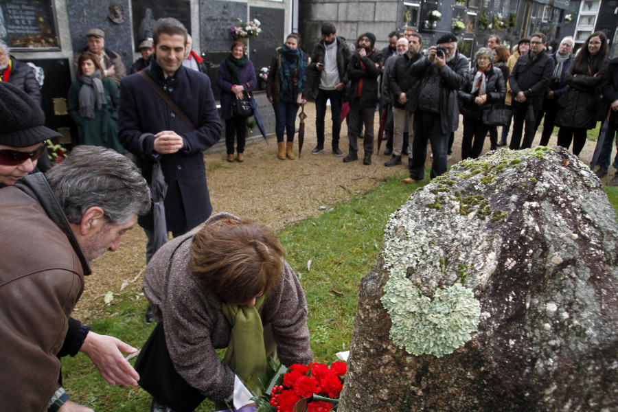
[[[0,144],[27,148],[60,133],[43,126],[45,114],[27,93],[0,82]]]

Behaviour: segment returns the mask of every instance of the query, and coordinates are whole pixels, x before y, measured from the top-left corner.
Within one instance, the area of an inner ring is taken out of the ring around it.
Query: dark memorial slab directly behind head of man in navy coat
[[[135,51],[139,43],[152,38],[152,25],[161,17],[173,17],[187,27],[191,34],[191,2],[189,0],[133,0],[133,38]]]

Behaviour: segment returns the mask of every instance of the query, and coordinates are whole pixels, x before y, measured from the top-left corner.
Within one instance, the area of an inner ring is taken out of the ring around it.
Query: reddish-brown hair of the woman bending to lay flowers
[[[279,284],[284,250],[275,233],[249,219],[227,218],[198,231],[189,271],[206,292],[243,304]]]

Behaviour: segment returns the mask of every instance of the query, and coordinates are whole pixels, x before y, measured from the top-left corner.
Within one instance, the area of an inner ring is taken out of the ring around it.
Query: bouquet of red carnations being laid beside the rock
[[[283,365],[275,371],[264,395],[253,398],[258,412],[328,412],[336,411],[343,388],[345,362],[330,365]]]

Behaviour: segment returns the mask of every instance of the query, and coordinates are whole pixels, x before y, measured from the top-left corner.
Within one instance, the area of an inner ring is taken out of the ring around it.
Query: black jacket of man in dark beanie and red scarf
[[[358,51],[352,54],[350,64],[347,65],[347,76],[350,78],[350,91],[347,94],[349,102],[356,98],[358,86],[363,79],[363,89],[361,89],[359,101],[361,106],[370,107],[378,104],[378,77],[382,73],[381,61],[382,52],[376,49],[362,58]],[[365,65],[365,69],[361,67],[361,62]],[[377,67],[376,63],[378,63]]]

